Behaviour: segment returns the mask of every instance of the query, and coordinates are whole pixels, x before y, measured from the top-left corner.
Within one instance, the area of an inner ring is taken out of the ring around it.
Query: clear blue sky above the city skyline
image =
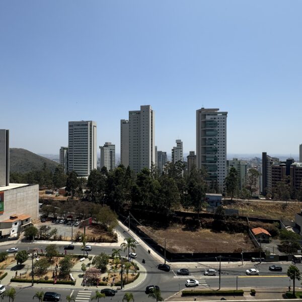
[[[0,129],[58,154],[68,121],[120,148],[152,105],[156,145],[196,150],[196,110],[228,111],[228,153],[297,154],[302,1],[0,1]]]

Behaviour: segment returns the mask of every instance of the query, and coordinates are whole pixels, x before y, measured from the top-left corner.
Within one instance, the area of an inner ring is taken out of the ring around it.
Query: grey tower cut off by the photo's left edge
[[[10,183],[10,131],[0,129],[0,187]]]

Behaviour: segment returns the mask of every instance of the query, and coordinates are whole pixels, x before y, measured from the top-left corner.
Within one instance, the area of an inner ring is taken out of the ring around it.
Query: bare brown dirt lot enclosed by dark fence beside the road
[[[212,232],[208,229],[185,231],[183,225],[174,224],[167,229],[155,229],[152,226],[139,228],[161,246],[174,253],[215,253],[215,252],[252,252],[254,245],[245,234]]]

